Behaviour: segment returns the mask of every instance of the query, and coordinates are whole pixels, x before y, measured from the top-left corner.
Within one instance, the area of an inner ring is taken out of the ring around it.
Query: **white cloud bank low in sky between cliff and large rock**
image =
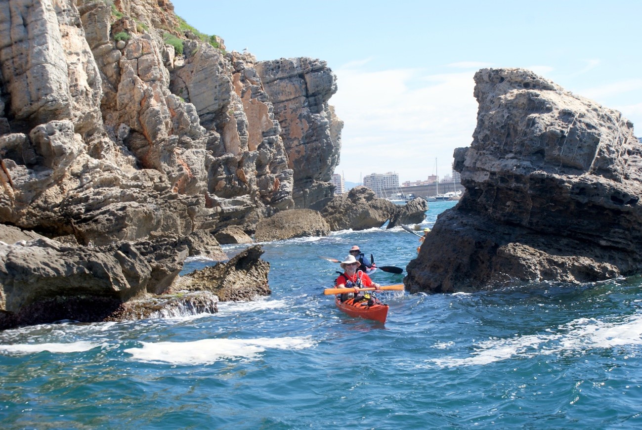
[[[338,91],[330,103],[343,120],[341,164],[361,175],[395,171],[404,180],[451,173],[453,150],[469,146],[476,125],[473,71],[424,74],[420,69],[369,72],[336,69]]]

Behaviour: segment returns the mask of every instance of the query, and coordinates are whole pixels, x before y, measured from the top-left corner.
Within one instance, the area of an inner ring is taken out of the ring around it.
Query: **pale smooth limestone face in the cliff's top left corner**
[[[70,119],[78,133],[100,124],[101,78],[71,2],[0,4],[0,71],[13,130]]]

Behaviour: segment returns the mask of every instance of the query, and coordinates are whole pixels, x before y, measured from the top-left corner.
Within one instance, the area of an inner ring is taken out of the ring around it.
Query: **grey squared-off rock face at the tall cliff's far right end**
[[[294,171],[297,207],[332,196],[331,175],[339,162],[343,123],[328,100],[336,92],[336,76],[324,61],[281,58],[256,64]]]

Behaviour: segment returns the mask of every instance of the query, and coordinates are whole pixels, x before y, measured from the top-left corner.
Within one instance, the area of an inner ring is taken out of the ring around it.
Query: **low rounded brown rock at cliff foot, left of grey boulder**
[[[279,241],[293,237],[326,236],[329,232],[330,226],[319,212],[291,209],[261,219],[256,225],[254,239],[259,242]]]

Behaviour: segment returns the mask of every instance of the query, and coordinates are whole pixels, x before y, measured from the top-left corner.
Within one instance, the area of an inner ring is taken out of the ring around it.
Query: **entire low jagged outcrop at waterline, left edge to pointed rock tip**
[[[8,226],[0,227],[0,239],[0,329],[215,313],[219,300],[270,294],[270,264],[259,246],[174,282],[188,249],[173,241],[90,248]]]

